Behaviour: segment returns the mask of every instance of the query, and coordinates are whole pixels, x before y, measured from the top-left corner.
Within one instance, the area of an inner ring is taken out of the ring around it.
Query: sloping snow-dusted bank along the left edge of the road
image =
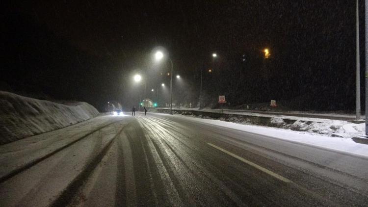
[[[64,128],[98,114],[85,102],[66,105],[0,91],[0,144]]]

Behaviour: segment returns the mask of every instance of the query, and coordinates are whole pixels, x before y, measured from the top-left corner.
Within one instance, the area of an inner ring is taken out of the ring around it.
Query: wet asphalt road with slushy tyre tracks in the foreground
[[[179,115],[99,116],[1,145],[0,206],[368,206],[368,158]]]

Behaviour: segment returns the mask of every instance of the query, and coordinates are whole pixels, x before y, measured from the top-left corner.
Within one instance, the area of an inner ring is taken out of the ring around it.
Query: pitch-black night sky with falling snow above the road
[[[182,77],[174,103],[198,104],[204,69],[209,107],[225,95],[233,107],[275,99],[293,110],[355,108],[354,0],[29,0],[3,10],[1,90],[131,108],[143,98],[143,84],[132,81],[140,73],[146,97],[162,105],[170,61],[153,61],[160,47]]]

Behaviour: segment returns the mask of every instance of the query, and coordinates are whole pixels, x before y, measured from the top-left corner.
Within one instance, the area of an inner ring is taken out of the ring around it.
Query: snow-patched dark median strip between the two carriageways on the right
[[[168,113],[168,109],[154,109],[159,113]],[[181,114],[203,119],[233,122],[242,125],[258,125],[281,129],[291,129],[314,134],[323,134],[336,137],[362,137],[365,134],[365,124],[354,124],[348,121],[320,119],[298,116],[284,116],[274,114],[260,114],[249,112],[209,112],[198,110],[173,110],[174,114]]]

